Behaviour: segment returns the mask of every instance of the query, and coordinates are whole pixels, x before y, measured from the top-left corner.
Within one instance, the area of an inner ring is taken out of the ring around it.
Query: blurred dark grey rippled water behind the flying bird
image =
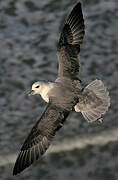
[[[0,0],[0,180],[118,179],[117,138],[114,142],[109,139],[105,144],[102,142],[106,138],[103,132],[110,135],[111,129],[116,132],[118,129],[117,0],[82,1],[86,25],[81,48],[83,83],[96,78],[103,80],[111,96],[109,112],[102,124],[88,124],[73,112],[53,144],[61,146],[64,141],[69,145],[69,139],[74,143],[75,137],[86,140],[100,134],[101,142],[69,151],[62,147],[61,151],[43,156],[20,175],[12,176],[12,157],[46,105],[40,96],[29,98],[27,93],[37,80],[55,80],[59,30],[76,2]],[[8,162],[7,157],[11,157]]]

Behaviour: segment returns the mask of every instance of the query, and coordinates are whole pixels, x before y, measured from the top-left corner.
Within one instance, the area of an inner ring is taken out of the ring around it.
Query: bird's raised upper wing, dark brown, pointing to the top
[[[61,32],[58,43],[59,77],[80,79],[79,52],[84,37],[84,19],[79,2],[72,10]]]

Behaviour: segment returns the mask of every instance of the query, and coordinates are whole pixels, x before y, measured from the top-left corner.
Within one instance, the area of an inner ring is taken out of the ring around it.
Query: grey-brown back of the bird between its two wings
[[[57,78],[54,88],[49,92],[49,96],[57,106],[71,111],[78,102],[80,91],[80,81]]]

